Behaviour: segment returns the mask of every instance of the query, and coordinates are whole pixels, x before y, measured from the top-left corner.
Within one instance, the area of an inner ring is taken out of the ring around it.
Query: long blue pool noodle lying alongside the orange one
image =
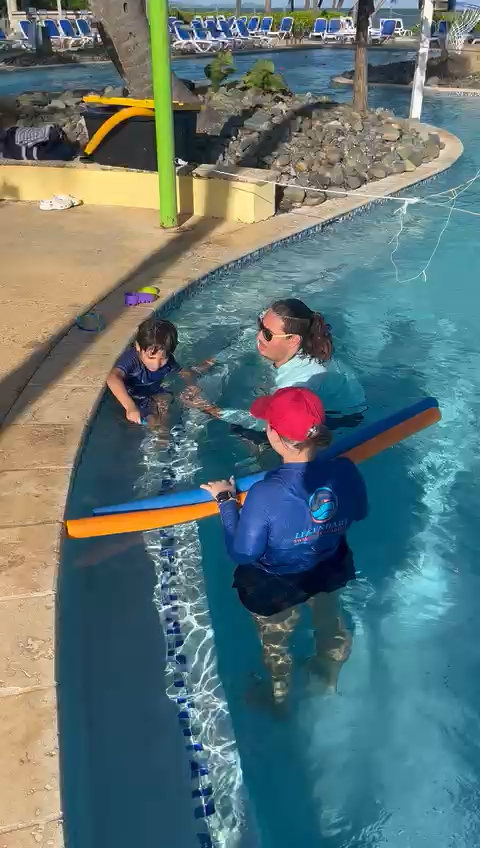
[[[393,412],[387,415],[386,418],[381,418],[379,421],[374,421],[372,424],[365,424],[364,427],[359,427],[348,436],[343,436],[338,441],[334,442],[327,448],[323,454],[323,459],[333,459],[339,454],[346,453],[358,445],[368,442],[380,433],[396,427],[403,421],[408,421],[415,415],[425,412],[427,409],[438,407],[438,401],[435,398],[429,397],[407,406],[400,412]],[[263,480],[265,471],[258,474],[249,474],[248,477],[240,477],[236,480],[236,486],[239,492],[247,492],[254,483]],[[116,512],[137,512],[144,509],[163,509],[169,506],[191,506],[197,503],[206,503],[211,501],[212,496],[209,492],[203,489],[189,489],[183,492],[168,492],[164,495],[157,495],[153,498],[142,498],[142,500],[131,501],[125,504],[115,504],[114,506],[101,506],[93,510],[94,515],[111,515]]]

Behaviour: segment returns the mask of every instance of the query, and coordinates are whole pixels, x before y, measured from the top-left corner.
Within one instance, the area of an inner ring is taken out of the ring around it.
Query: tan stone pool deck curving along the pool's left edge
[[[54,670],[59,546],[82,434],[113,361],[151,312],[126,309],[123,293],[150,283],[165,300],[228,262],[364,206],[365,194],[382,197],[434,176],[463,150],[455,136],[438,132],[445,149],[414,173],[260,224],[190,219],[165,232],[147,210],[44,213],[36,204],[0,204],[1,848],[63,845]],[[82,332],[75,317],[95,304],[106,327]]]

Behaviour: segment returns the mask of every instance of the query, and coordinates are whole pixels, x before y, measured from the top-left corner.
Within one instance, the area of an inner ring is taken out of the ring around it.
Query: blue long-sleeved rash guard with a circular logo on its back
[[[239,512],[220,505],[227,552],[238,565],[258,564],[276,574],[308,571],[332,560],[354,521],[368,514],[367,491],[345,457],[288,463],[250,489]]]

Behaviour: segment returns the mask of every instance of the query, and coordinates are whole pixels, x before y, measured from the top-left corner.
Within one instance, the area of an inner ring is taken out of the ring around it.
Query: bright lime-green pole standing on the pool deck
[[[157,139],[160,226],[177,226],[177,181],[173,135],[172,71],[168,35],[168,0],[148,3],[150,46],[152,51],[155,135]]]

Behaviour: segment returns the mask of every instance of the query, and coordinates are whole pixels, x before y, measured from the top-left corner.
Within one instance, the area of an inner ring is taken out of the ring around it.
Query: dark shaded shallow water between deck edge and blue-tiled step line
[[[102,408],[79,463],[72,513],[131,497],[140,428]],[[121,458],[121,461],[120,461]],[[189,761],[165,693],[166,649],[141,534],[67,540],[57,679],[66,841],[73,848],[197,848]]]

